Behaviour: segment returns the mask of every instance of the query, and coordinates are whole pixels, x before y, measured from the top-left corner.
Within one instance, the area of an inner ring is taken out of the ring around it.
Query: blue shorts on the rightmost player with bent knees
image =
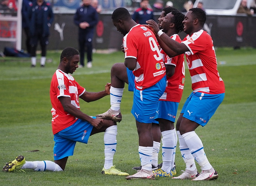
[[[204,94],[192,92],[184,103],[181,113],[184,113],[184,118],[205,126],[222,103],[224,95],[225,93]]]

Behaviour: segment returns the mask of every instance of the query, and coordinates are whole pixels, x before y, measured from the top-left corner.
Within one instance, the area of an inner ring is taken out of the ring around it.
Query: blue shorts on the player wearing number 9
[[[152,123],[155,118],[159,98],[166,86],[166,76],[144,90],[134,87],[132,111],[134,118],[141,123]]]

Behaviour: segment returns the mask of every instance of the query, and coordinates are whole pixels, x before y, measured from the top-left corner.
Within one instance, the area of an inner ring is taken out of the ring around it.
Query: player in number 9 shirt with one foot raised
[[[134,88],[134,96],[131,113],[136,119],[142,169],[132,176],[127,176],[126,179],[155,179],[151,164],[153,152],[151,125],[155,118],[158,99],[165,90],[164,62],[157,47],[154,33],[133,21],[127,9],[117,8],[111,18],[117,30],[124,35],[124,65],[130,70],[127,72],[132,71],[135,78],[135,86],[132,87]],[[111,89],[117,90],[114,93],[114,100],[120,103],[123,88],[111,87]]]

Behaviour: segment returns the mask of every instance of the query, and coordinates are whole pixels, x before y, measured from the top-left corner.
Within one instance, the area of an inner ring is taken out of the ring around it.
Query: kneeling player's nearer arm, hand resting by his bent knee
[[[80,111],[77,107],[71,104],[70,97],[60,96],[59,100],[65,112],[71,114],[72,116],[75,116],[76,118],[79,118],[81,120],[91,123],[91,125],[97,129],[100,129],[102,127],[103,125],[102,119],[99,119],[99,118],[93,119],[90,116],[83,113],[82,111]]]

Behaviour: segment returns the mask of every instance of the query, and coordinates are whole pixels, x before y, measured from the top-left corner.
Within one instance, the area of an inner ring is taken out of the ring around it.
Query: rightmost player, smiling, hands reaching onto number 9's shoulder
[[[206,14],[202,9],[189,9],[183,21],[184,32],[188,35],[181,43],[164,34],[155,21],[147,21],[148,27],[151,27],[154,33],[172,50],[168,52],[170,57],[186,54],[192,80],[193,92],[187,98],[176,125],[186,171],[173,179],[197,181],[218,178],[217,171],[205,155],[201,139],[195,133],[197,127],[207,124],[222,103],[225,94],[224,82],[217,70],[212,38],[203,31],[205,21]],[[200,175],[197,172],[195,161],[202,169]]]

